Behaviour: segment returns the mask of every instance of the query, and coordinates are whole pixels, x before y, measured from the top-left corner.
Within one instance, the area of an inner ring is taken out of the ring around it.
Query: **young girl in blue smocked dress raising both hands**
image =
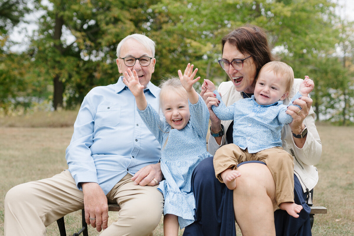
[[[182,229],[194,221],[195,200],[190,188],[191,175],[198,163],[211,156],[206,150],[206,134],[209,111],[193,84],[198,69],[188,63],[178,78],[165,80],[160,85],[160,108],[165,120],[147,103],[137,73],[128,69],[124,84],[136,99],[142,120],[161,145],[162,180],[158,189],[165,198],[164,235],[178,235],[178,224]]]

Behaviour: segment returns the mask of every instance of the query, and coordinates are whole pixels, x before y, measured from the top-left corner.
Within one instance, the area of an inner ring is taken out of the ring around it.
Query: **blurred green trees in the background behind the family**
[[[295,77],[315,81],[317,117],[348,125],[354,123],[354,26],[338,7],[332,0],[5,0],[0,109],[77,107],[92,87],[117,81],[115,48],[132,33],[156,41],[155,84],[188,62],[202,79],[219,83],[227,80],[217,63],[221,38],[256,24],[268,31],[274,53]],[[37,28],[28,46],[13,50],[13,27],[33,13]]]

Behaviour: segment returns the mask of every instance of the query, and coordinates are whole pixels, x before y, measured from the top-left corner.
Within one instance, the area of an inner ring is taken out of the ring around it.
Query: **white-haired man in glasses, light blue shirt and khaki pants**
[[[158,109],[160,89],[150,82],[155,43],[133,34],[117,47],[116,63],[123,74],[136,70],[150,104]],[[160,145],[142,122],[135,98],[123,84],[93,88],[82,102],[66,150],[68,170],[13,187],[5,197],[5,235],[45,235],[46,226],[85,207],[85,218],[100,235],[153,235],[164,199]],[[108,203],[121,207],[109,227]],[[108,228],[107,228],[108,227]]]

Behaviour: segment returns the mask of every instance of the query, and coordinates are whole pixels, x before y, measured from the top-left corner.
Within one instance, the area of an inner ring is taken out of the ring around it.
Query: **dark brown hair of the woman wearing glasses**
[[[228,33],[222,39],[222,52],[226,42],[237,47],[242,54],[252,56],[257,68],[256,77],[264,64],[276,60],[268,45],[267,34],[256,25],[245,25]]]

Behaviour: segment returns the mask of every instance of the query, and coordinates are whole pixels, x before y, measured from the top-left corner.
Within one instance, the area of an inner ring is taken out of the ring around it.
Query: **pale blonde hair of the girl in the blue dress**
[[[171,91],[180,94],[181,97],[185,97],[185,99],[188,99],[187,91],[185,91],[181,84],[181,81],[176,76],[169,75],[165,77],[161,80],[159,87],[161,88],[159,98],[160,109],[162,109],[162,103],[164,101],[165,96],[169,96]]]

